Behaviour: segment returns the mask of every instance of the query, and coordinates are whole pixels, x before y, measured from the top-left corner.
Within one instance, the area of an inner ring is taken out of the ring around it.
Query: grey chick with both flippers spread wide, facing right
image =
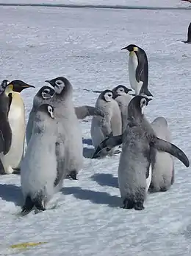
[[[142,95],[135,96],[128,106],[128,124],[122,136],[109,137],[101,142],[95,154],[103,148],[112,148],[122,142],[118,166],[118,184],[123,208],[143,210],[147,192],[146,178],[149,167],[153,167],[157,151],[165,151],[177,157],[186,167],[190,162],[180,148],[159,139],[150,122],[143,114],[149,100]]]

